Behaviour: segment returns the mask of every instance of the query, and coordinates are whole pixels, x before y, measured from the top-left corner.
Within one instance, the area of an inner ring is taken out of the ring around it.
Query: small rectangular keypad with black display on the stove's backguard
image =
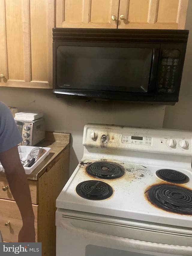
[[[141,137],[132,135],[122,135],[122,143],[139,144],[139,145],[152,145],[152,137]]]

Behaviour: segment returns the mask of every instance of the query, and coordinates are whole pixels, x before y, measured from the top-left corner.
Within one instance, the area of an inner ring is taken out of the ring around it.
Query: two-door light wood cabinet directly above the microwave
[[[56,0],[56,27],[184,29],[188,0]]]

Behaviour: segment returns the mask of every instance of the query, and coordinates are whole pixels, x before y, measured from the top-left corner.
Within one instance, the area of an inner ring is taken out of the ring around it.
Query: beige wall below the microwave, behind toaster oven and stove
[[[70,172],[83,154],[82,133],[86,123],[149,126],[161,128],[164,106],[128,102],[56,98],[50,89],[0,88],[0,100],[19,111],[42,111],[47,131],[69,132]]]

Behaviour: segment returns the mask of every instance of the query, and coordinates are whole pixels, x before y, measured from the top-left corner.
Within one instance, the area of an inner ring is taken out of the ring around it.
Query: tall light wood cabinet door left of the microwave
[[[53,0],[0,0],[1,86],[51,88]]]

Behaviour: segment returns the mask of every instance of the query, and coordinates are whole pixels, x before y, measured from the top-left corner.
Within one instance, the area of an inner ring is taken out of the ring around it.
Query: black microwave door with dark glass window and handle
[[[61,45],[57,85],[67,95],[153,101],[159,48],[160,44]]]

